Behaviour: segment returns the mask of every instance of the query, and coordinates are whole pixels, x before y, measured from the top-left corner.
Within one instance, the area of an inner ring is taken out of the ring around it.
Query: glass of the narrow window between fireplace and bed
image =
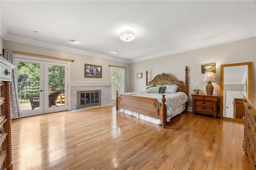
[[[116,98],[116,91],[124,93],[123,79],[123,70],[112,69],[112,99]]]

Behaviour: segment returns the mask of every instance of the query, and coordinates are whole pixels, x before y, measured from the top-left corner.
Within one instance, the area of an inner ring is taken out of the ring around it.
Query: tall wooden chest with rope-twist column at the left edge
[[[12,170],[10,82],[12,65],[0,57],[0,170]]]

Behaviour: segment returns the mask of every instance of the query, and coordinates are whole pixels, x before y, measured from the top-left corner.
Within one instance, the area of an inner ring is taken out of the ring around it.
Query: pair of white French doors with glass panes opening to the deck
[[[68,110],[68,64],[24,58],[15,62],[22,117]]]

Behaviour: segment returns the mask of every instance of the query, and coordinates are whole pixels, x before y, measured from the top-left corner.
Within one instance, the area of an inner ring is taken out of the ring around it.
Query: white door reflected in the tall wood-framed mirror
[[[234,118],[234,99],[243,99],[241,91],[226,91],[226,117]]]

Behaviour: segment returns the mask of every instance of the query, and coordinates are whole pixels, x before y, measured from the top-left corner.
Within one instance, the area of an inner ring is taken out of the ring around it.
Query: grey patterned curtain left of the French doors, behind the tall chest
[[[15,65],[14,62],[14,54],[12,49],[5,48],[4,49],[4,58],[10,63]],[[18,97],[18,90],[17,90],[17,82],[16,82],[16,75],[14,69],[12,69],[12,81],[10,83],[10,104],[11,104],[11,120],[22,115]]]

